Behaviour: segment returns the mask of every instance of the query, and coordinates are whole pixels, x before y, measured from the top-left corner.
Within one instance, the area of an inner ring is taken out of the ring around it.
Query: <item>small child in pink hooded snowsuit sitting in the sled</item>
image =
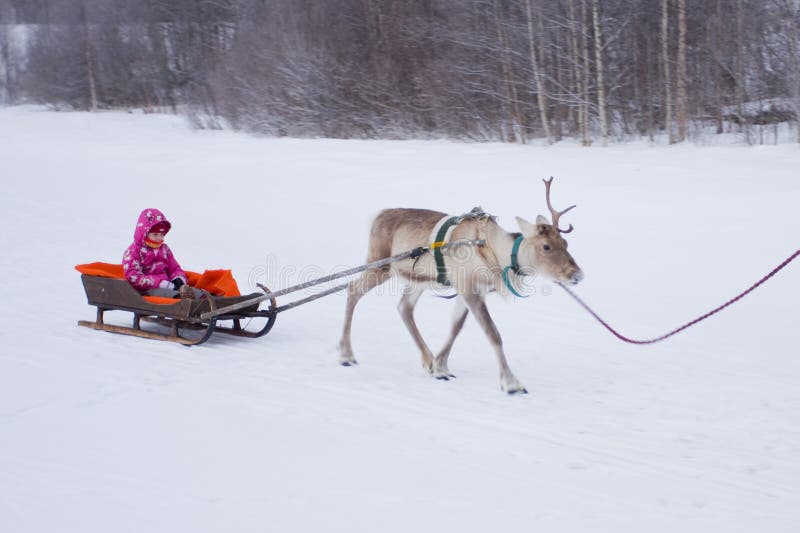
[[[193,298],[199,296],[197,289],[186,281],[186,272],[164,243],[164,235],[172,227],[158,209],[145,209],[139,215],[133,244],[122,256],[125,279],[133,287],[149,296],[167,298]]]

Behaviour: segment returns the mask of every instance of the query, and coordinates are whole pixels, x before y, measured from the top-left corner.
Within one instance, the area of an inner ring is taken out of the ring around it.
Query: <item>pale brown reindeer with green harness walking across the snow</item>
[[[519,282],[520,277],[537,273],[572,285],[583,279],[583,272],[567,252],[567,241],[561,236],[561,233],[572,231],[572,225],[567,229],[559,227],[560,217],[575,206],[563,211],[553,209],[550,203],[553,178],[543,181],[552,223],[542,215],[537,217],[535,224],[517,217],[521,233],[509,233],[497,224],[495,217],[476,208],[453,221],[457,224],[448,235],[450,243],[466,243],[467,246],[455,248],[458,253],[451,253],[454,248],[449,249],[446,255],[442,255],[438,267],[434,254],[427,253],[416,259],[405,259],[366,270],[360,278],[352,281],[348,286],[344,331],[339,342],[339,362],[344,366],[356,364],[350,329],[358,301],[370,290],[397,276],[406,284],[398,310],[422,354],[422,367],[427,372],[437,379],[454,377],[448,369],[447,360],[453,342],[471,311],[497,355],[501,389],[508,394],[527,393],[506,362],[500,333],[489,316],[484,300],[493,291],[517,294],[514,283]],[[434,250],[443,247],[444,243],[441,240],[436,242],[436,238],[443,234],[441,226],[449,218],[445,213],[426,209],[381,211],[372,223],[367,262],[391,257],[415,247]],[[464,253],[465,250],[468,253]],[[426,289],[441,287],[442,284],[450,285],[455,290],[456,308],[450,335],[434,357],[414,321],[414,306]]]

